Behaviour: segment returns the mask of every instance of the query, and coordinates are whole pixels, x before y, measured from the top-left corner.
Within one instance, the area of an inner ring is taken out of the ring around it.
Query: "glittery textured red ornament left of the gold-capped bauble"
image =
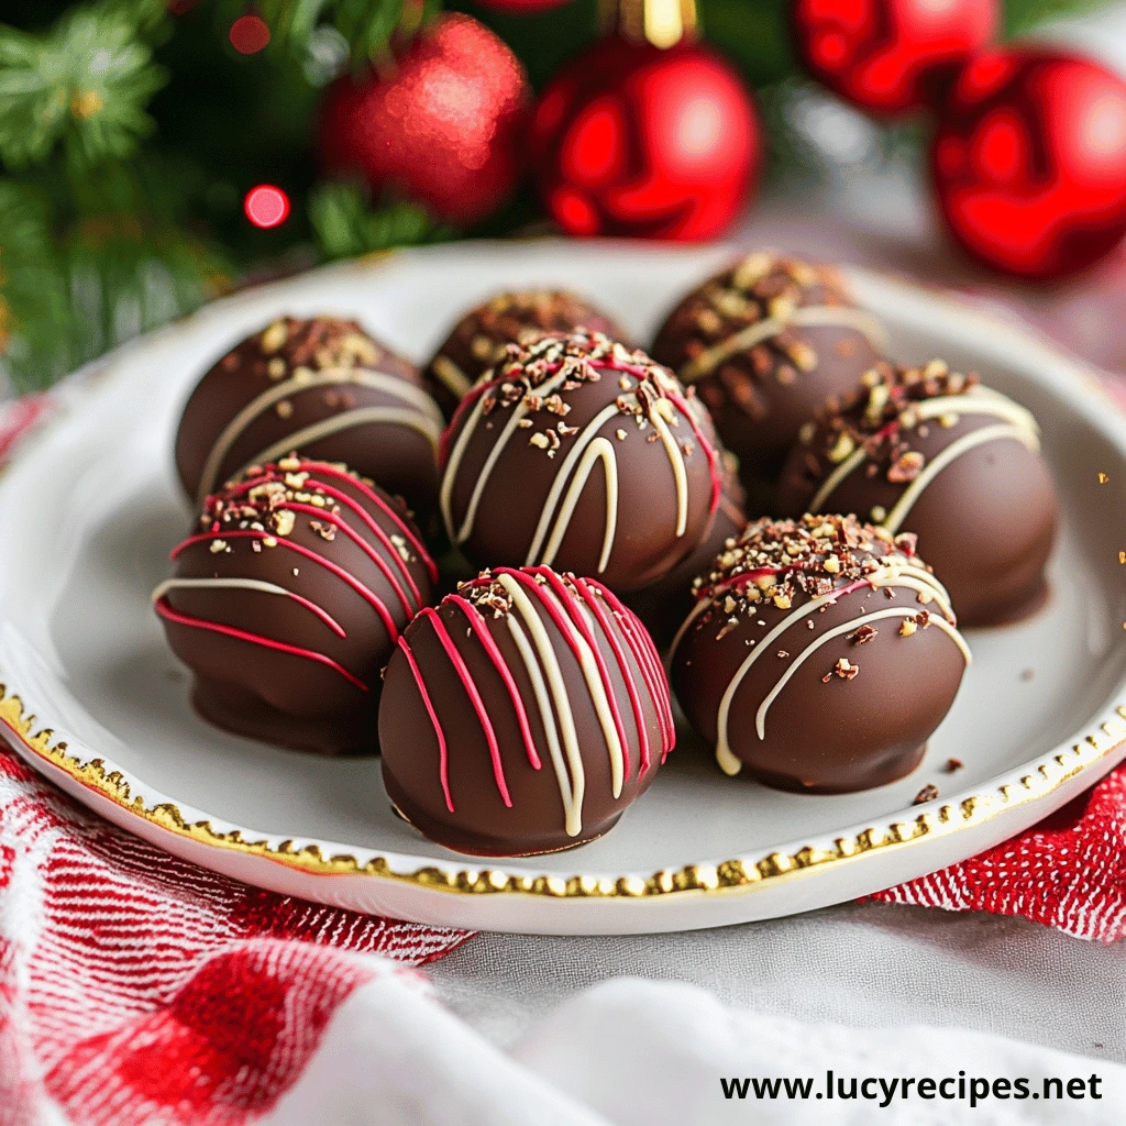
[[[330,171],[360,171],[376,191],[472,223],[516,187],[529,101],[524,68],[501,39],[470,16],[439,16],[387,74],[329,88],[321,158]]]

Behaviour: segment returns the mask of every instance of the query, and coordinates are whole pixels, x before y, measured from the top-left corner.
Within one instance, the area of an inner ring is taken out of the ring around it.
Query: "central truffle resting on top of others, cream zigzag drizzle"
[[[716,454],[679,381],[600,332],[509,349],[443,438],[450,542],[481,566],[655,582],[720,502]]]

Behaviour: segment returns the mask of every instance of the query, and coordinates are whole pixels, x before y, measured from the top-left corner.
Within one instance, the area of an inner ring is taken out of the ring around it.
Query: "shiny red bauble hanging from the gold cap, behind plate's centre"
[[[742,80],[691,41],[601,39],[544,91],[531,137],[544,203],[574,235],[714,238],[744,207],[761,154]]]

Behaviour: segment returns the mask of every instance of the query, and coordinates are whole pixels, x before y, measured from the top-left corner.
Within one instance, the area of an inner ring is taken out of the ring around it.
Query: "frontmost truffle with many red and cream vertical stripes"
[[[600,837],[673,745],[668,683],[608,588],[497,568],[399,638],[379,707],[383,780],[431,840],[477,856]]]

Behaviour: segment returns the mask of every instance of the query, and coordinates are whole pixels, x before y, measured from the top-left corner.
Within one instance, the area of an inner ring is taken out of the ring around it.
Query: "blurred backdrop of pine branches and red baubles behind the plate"
[[[5,0],[0,19],[0,396],[319,262],[553,233],[864,261],[1126,370],[1120,2]]]

